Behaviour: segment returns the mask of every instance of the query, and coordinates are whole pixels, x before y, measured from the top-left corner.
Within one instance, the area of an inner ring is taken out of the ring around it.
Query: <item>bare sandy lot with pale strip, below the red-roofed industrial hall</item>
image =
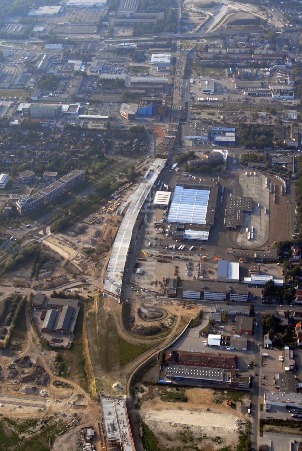
[[[203,451],[230,446],[236,449],[238,435],[246,429],[240,411],[211,403],[214,391],[186,390],[186,405],[148,400],[140,409],[141,417],[159,440],[160,449],[177,449],[181,442]],[[208,407],[210,406],[210,407]],[[195,449],[195,448],[194,448]]]

